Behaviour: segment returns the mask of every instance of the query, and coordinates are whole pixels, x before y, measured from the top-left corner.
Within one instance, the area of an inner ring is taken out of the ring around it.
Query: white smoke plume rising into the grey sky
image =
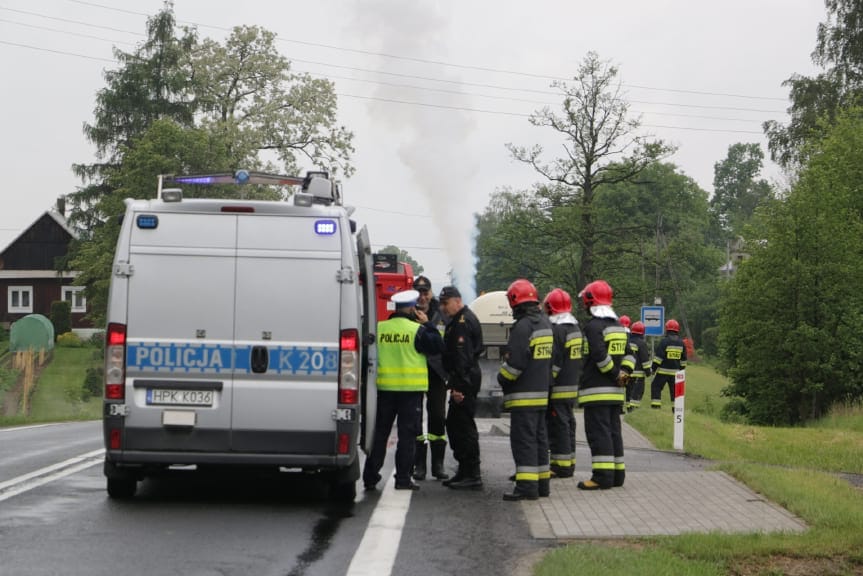
[[[446,18],[439,3],[365,0],[359,3],[358,16],[361,29],[368,31],[369,42],[377,52],[436,61],[456,59],[446,50]],[[409,60],[382,58],[380,69],[461,80],[452,67]],[[428,200],[453,281],[464,301],[469,303],[476,295],[475,226],[470,197],[480,193],[471,190],[472,186],[477,186],[473,178],[479,171],[480,161],[469,145],[475,123],[470,112],[457,108],[469,108],[470,98],[455,93],[465,90],[454,83],[424,83],[414,78],[391,81],[447,90],[402,90],[379,85],[374,94],[376,98],[422,102],[428,106],[373,101],[370,111],[376,122],[388,126],[397,136],[399,158],[410,170],[417,189]]]

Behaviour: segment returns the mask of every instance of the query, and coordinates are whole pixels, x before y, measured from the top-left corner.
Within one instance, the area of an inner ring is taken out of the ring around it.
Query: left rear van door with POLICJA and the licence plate
[[[226,451],[236,217],[134,217],[156,225],[131,227],[126,374],[134,399],[125,419],[125,448]],[[165,428],[165,414],[175,411],[195,412],[193,433]]]

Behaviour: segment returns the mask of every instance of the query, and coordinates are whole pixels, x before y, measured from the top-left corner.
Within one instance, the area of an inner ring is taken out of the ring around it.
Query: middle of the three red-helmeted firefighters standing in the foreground
[[[572,315],[572,299],[555,288],[542,301],[554,335],[552,384],[546,424],[549,467],[554,478],[572,478],[575,472],[575,402],[581,378],[581,329]]]

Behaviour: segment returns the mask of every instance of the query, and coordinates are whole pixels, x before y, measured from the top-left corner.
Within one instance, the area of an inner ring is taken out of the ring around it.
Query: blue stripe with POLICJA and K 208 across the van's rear
[[[268,346],[267,373],[335,374],[339,351],[327,346]],[[141,372],[182,374],[251,373],[251,346],[185,342],[129,343],[126,366]]]

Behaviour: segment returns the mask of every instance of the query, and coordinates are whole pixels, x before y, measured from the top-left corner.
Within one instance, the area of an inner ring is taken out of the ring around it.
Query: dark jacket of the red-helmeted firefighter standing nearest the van
[[[551,323],[535,304],[513,310],[515,324],[509,332],[504,363],[497,381],[507,410],[545,410],[551,387],[554,348]]]

